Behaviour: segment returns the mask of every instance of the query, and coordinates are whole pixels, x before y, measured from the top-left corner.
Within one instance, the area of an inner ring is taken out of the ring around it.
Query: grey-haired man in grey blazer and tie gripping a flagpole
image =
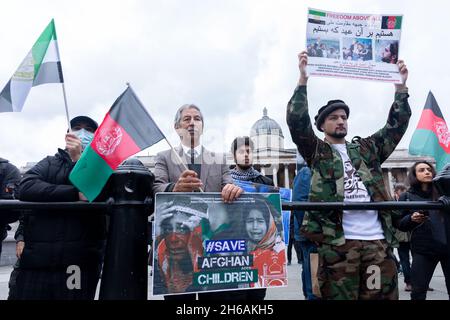
[[[233,184],[223,154],[213,153],[200,144],[203,115],[193,104],[181,106],[174,121],[180,137],[177,148],[160,152],[155,161],[153,193],[157,192],[222,192],[222,200],[231,202],[243,192]],[[165,296],[166,300],[195,300],[195,294]],[[232,300],[233,291],[201,293],[199,300]]]

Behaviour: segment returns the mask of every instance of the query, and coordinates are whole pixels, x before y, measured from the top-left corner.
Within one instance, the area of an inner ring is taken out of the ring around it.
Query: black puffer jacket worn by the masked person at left
[[[78,201],[78,190],[69,181],[74,164],[66,151],[58,149],[27,171],[20,182],[22,201]],[[58,268],[101,263],[106,238],[105,214],[48,213],[36,210],[21,221],[25,249],[22,268]]]

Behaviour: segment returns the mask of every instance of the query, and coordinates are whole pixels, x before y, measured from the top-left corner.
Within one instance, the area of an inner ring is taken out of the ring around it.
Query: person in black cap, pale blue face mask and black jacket
[[[98,125],[89,117],[78,116],[70,126],[65,149],[58,149],[25,173],[19,185],[20,200],[86,201],[69,181],[69,174]],[[17,251],[19,268],[10,299],[94,299],[106,238],[105,215],[55,211],[33,210],[21,220],[16,233],[16,240],[22,242]]]

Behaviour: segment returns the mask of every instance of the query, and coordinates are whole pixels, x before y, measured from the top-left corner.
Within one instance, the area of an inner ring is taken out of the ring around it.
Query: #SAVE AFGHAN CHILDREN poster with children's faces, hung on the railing
[[[287,286],[279,193],[158,193],[153,295]]]

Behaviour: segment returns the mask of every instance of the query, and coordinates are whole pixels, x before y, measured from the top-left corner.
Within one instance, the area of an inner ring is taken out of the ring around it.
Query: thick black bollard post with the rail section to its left
[[[121,165],[105,186],[106,202],[23,202],[0,200],[0,215],[16,210],[46,210],[45,214],[77,211],[110,217],[99,298],[147,299],[148,216],[154,176],[139,160]],[[150,209],[150,210],[149,210]],[[37,213],[38,214],[38,213]]]

